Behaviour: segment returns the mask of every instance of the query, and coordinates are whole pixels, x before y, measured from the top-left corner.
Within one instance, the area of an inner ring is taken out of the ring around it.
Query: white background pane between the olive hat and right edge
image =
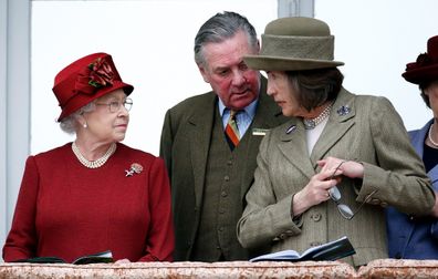
[[[335,56],[345,62],[344,86],[355,93],[388,97],[407,130],[432,117],[418,86],[405,81],[406,63],[426,52],[438,35],[435,0],[316,0],[315,18],[335,34]],[[385,121],[385,120],[382,120]]]

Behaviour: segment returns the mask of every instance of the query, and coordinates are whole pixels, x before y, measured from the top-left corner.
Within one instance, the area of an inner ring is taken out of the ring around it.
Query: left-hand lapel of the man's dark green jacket
[[[191,126],[190,133],[190,159],[194,179],[196,205],[199,207],[202,202],[204,182],[206,177],[208,149],[211,141],[211,130],[213,125],[215,112],[217,108],[216,94],[209,95],[207,105],[202,105],[190,117],[188,124]]]

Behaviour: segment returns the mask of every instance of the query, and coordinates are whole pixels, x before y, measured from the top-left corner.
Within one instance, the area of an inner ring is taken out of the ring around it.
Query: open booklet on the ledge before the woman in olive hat
[[[295,250],[271,252],[250,259],[250,261],[277,260],[277,261],[304,261],[304,260],[336,260],[356,254],[346,236],[315,247],[311,247],[303,254]]]

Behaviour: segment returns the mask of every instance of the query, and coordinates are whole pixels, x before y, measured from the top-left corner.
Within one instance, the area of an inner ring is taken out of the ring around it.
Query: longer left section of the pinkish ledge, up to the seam
[[[1,264],[0,278],[352,278],[355,270],[337,261],[304,262],[133,262],[86,266]]]

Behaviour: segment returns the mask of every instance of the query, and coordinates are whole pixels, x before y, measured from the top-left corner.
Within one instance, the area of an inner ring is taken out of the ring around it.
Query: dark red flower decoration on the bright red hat
[[[105,58],[98,58],[83,69],[74,85],[76,92],[93,94],[97,89],[113,85],[114,71]]]

